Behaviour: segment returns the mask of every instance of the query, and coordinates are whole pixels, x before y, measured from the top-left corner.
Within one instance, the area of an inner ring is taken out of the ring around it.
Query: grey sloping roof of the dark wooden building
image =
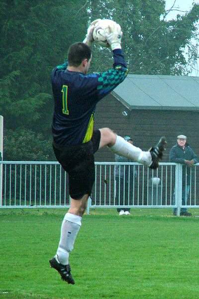
[[[129,74],[112,95],[129,110],[199,110],[199,77]]]

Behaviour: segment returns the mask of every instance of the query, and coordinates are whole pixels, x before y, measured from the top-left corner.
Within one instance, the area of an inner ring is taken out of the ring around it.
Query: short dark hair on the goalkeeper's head
[[[91,48],[85,43],[72,44],[68,50],[68,65],[78,67],[84,59],[91,58]]]

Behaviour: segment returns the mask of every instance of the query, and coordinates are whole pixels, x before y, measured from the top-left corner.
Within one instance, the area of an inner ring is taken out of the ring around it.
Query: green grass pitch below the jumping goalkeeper
[[[65,212],[0,209],[0,299],[199,299],[198,217],[91,209],[70,255],[76,284],[68,285],[48,262]]]

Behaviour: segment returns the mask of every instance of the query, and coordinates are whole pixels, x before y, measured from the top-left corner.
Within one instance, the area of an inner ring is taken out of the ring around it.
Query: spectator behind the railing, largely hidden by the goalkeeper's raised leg
[[[133,144],[133,140],[130,136],[124,136],[124,140]],[[127,159],[123,156],[115,154],[115,162],[135,162],[134,160]],[[135,165],[115,165],[115,182],[116,182],[116,194],[115,204],[117,205],[129,205],[133,198],[133,182],[137,177],[137,170]],[[130,208],[117,208],[119,215],[129,215]]]

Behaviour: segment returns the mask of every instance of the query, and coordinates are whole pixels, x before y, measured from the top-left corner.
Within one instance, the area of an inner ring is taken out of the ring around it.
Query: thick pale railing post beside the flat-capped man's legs
[[[177,216],[180,216],[182,206],[182,177],[183,165],[178,163],[175,172],[175,204],[177,204]]]

